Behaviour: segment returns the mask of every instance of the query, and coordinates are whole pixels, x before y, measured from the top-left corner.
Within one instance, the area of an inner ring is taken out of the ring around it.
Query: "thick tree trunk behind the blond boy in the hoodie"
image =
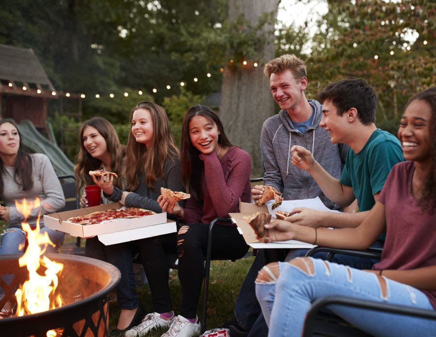
[[[252,25],[258,23],[263,13],[276,16],[279,0],[230,0],[229,20],[241,14]],[[269,90],[269,80],[263,74],[263,66],[274,58],[273,26],[265,25],[264,32],[271,38],[258,54],[257,60],[247,60],[242,70],[224,69],[221,87],[220,118],[229,140],[247,151],[252,160],[253,176],[263,176],[260,159],[260,130],[263,122],[274,114],[274,100]],[[258,66],[254,67],[253,63]]]

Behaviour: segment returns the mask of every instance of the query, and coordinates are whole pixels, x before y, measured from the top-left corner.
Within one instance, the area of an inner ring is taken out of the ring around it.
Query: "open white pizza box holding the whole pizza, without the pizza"
[[[113,203],[47,214],[44,215],[44,225],[50,229],[68,233],[75,237],[89,238],[101,234],[109,234],[146,226],[166,224],[167,222],[166,212],[146,215],[142,218],[120,219],[94,225],[79,225],[66,221],[71,217],[83,216],[99,210],[120,209],[122,207],[123,206],[120,203]]]

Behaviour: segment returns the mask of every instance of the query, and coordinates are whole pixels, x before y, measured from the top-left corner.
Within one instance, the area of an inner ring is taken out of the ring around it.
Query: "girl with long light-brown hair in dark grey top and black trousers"
[[[103,195],[111,201],[119,201],[128,207],[139,207],[161,213],[157,202],[161,187],[173,191],[184,191],[180,179],[179,150],[171,133],[166,112],[161,106],[151,102],[141,102],[130,113],[131,132],[126,154],[126,189],[105,184],[102,179],[94,178],[101,186]],[[175,218],[175,217],[174,217]],[[116,246],[116,248],[114,247]],[[168,288],[169,270],[166,254],[176,253],[176,233],[170,233],[137,241],[111,245],[114,255],[111,263],[124,267],[128,264],[132,276],[132,249],[138,249],[144,265],[145,274],[153,297],[154,311],[143,318],[145,309],[139,304],[137,296],[130,299],[129,315],[117,324],[114,333],[126,331],[126,336],[145,334],[152,328],[169,326],[174,312]],[[122,258],[120,257],[122,256]],[[118,261],[116,258],[118,257]],[[129,287],[130,283],[126,285]],[[134,283],[133,289],[134,291]],[[136,326],[137,325],[137,326]]]

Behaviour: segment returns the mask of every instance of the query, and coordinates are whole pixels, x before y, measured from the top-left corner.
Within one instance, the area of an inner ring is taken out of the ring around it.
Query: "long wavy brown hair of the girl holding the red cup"
[[[86,127],[96,128],[98,133],[106,140],[106,147],[111,156],[111,171],[118,174],[118,178],[114,180],[113,185],[122,188],[126,147],[120,144],[115,128],[109,121],[102,117],[93,117],[85,121],[79,131],[80,150],[76,156],[76,167],[74,167],[77,193],[80,194],[84,186],[94,185],[94,181],[88,172],[97,170],[101,165],[101,161],[91,156],[83,145],[83,131]]]

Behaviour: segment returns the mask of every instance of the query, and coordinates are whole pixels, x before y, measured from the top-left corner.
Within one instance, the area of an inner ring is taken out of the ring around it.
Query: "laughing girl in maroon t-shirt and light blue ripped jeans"
[[[269,336],[301,336],[307,310],[325,296],[436,309],[436,87],[409,100],[398,138],[408,161],[392,168],[359,226],[325,230],[279,220],[265,225],[272,241],[295,239],[347,249],[368,248],[386,231],[382,258],[373,270],[309,257],[265,266],[256,281],[256,294]],[[329,309],[371,336],[436,332],[434,320],[340,305]]]

